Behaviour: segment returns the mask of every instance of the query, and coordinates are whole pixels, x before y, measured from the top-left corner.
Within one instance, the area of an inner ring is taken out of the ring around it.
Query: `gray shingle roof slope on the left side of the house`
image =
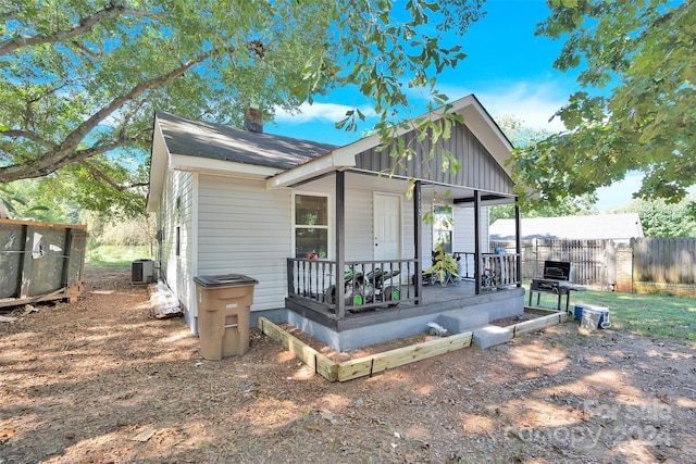
[[[289,170],[334,150],[336,146],[158,112],[170,153]]]

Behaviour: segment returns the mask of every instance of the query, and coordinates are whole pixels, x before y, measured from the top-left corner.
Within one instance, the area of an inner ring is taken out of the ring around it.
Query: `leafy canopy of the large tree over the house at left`
[[[446,101],[436,75],[464,58],[448,34],[463,34],[481,3],[9,0],[2,13],[12,21],[0,24],[0,183],[58,173],[102,198],[107,186],[124,198],[119,188],[133,183],[122,168],[133,166],[114,153],[147,155],[156,110],[238,125],[251,101],[272,115],[338,86],[372,102],[388,143],[408,108],[405,86]],[[356,130],[363,120],[355,109],[338,125]],[[423,130],[436,142],[450,124]]]

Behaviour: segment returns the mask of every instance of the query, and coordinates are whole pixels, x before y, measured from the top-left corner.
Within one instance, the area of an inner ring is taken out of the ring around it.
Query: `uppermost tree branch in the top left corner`
[[[53,34],[49,35],[38,35],[38,36],[17,36],[10,40],[0,41],[0,57],[5,55],[8,53],[12,53],[15,50],[18,50],[24,47],[30,47],[41,43],[51,43],[58,42],[62,40],[71,39],[80,34],[87,33],[95,27],[98,23],[103,21],[107,17],[111,16],[139,16],[139,17],[162,17],[163,13],[153,13],[141,10],[134,10],[125,7],[117,7],[114,4],[109,5],[103,10],[99,10],[89,16],[85,16],[79,20],[75,26],[65,30],[57,30]]]

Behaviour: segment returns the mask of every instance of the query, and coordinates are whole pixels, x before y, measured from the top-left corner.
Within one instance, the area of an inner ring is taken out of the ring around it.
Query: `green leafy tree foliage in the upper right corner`
[[[577,80],[585,90],[558,113],[567,133],[515,153],[517,181],[556,202],[642,171],[638,196],[683,198],[696,184],[696,3],[551,5],[537,34],[567,37],[555,65],[584,64]]]

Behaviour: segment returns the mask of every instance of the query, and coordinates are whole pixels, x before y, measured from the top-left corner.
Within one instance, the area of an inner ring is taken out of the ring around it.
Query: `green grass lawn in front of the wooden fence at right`
[[[571,293],[571,309],[577,303],[608,308],[613,329],[696,342],[696,298],[587,290]],[[556,297],[543,294],[542,304],[555,306]]]

